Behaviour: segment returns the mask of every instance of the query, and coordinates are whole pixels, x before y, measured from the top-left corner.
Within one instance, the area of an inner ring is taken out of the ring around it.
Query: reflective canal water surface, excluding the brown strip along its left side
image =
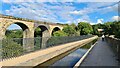
[[[80,60],[80,58],[87,52],[91,45],[93,45],[96,41],[97,39],[84,45],[83,47],[80,47],[79,49],[65,56],[64,58],[56,61],[54,64],[51,65],[52,68],[56,66],[69,66],[69,68],[72,68]]]

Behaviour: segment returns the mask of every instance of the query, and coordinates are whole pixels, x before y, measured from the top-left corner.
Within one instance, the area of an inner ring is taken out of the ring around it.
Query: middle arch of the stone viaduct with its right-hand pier
[[[40,36],[35,38],[35,42],[34,45],[37,46],[37,48],[46,48],[46,42],[47,40],[50,38],[50,32],[47,26],[45,25],[39,25],[37,27],[35,27],[35,29],[40,28],[41,31],[39,33]],[[36,31],[34,29],[34,36]]]

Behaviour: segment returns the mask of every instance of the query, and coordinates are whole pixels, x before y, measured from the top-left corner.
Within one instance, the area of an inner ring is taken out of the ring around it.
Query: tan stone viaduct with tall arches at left
[[[23,19],[23,18],[16,18],[13,16],[0,15],[0,39],[5,38],[5,32],[11,24],[17,24],[22,28],[24,48],[26,47],[31,48],[33,46],[34,42],[32,41],[34,41],[34,39],[32,40],[30,39],[34,38],[35,29],[38,27],[41,29],[41,32],[42,32],[41,37],[48,37],[48,38],[52,36],[53,31],[58,31],[63,29],[63,25],[60,25],[60,24],[41,22],[41,21],[35,21],[35,20],[29,20],[29,19]],[[45,40],[47,39],[42,39],[42,41],[45,42]],[[42,44],[44,45],[45,43],[42,43]]]

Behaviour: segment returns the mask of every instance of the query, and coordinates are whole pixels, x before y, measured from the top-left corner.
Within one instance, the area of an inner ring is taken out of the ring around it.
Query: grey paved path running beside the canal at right
[[[109,45],[100,39],[81,66],[118,66],[118,62]]]

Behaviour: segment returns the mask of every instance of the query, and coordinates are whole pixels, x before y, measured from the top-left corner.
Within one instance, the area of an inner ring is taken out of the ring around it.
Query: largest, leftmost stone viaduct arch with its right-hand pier
[[[7,21],[7,20],[6,20]],[[30,25],[26,22],[19,22],[19,21],[7,21],[4,22],[4,24],[2,24],[2,33],[1,36],[5,38],[5,32],[7,30],[7,28],[12,25],[12,24],[17,24],[18,26],[20,26],[23,30],[23,41],[22,41],[22,46],[23,49],[26,51],[31,51],[34,48],[34,40],[30,37],[32,36],[32,31],[30,31]]]

